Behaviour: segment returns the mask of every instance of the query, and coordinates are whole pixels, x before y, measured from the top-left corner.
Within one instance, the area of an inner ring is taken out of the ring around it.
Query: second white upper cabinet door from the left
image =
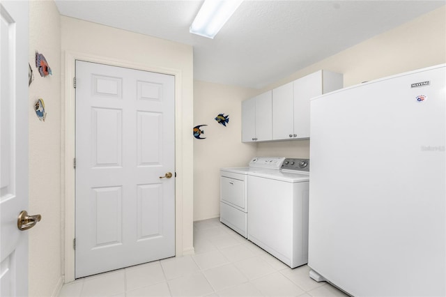
[[[272,139],[272,91],[256,96],[256,141]]]

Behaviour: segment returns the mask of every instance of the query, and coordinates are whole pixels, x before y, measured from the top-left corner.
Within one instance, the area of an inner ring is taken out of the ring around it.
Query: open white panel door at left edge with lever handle
[[[28,295],[28,1],[0,3],[0,296]]]

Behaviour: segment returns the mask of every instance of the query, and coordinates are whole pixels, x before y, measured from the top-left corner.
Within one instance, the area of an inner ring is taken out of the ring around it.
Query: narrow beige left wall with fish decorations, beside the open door
[[[61,287],[61,26],[53,1],[29,2],[29,213],[42,221],[29,231],[29,296],[52,296]],[[36,50],[52,75],[41,77]],[[38,98],[47,117],[34,112]]]

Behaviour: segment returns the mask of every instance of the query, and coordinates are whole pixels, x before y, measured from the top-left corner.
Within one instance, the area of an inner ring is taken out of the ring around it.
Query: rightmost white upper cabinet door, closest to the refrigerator
[[[322,70],[294,81],[294,133],[309,138],[309,102],[322,95]]]

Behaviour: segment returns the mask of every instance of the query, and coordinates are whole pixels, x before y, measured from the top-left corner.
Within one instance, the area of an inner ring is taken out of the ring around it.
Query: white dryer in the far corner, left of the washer
[[[220,169],[220,222],[247,238],[247,174],[279,172],[285,158],[258,157],[249,167]]]

